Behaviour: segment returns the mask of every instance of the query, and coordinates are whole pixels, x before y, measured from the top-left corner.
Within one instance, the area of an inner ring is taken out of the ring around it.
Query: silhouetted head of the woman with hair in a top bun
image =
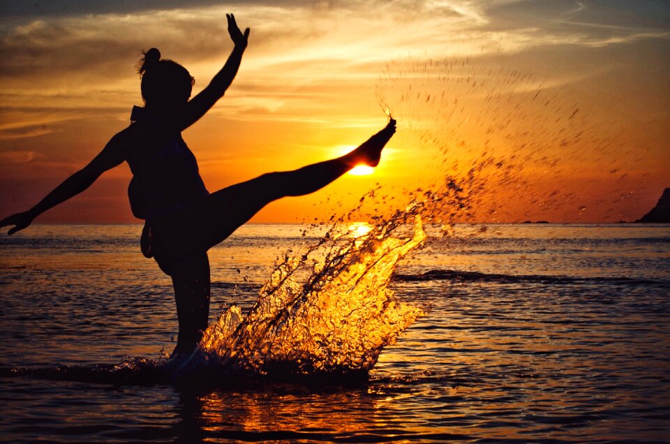
[[[188,101],[195,79],[186,68],[175,61],[161,59],[161,52],[155,47],[143,54],[137,72],[142,77],[140,88],[144,103],[172,105]]]

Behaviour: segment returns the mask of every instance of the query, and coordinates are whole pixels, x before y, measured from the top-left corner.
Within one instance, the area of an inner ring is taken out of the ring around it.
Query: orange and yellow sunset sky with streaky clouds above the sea
[[[140,50],[158,47],[204,88],[232,50],[225,13],[251,28],[248,48],[184,132],[209,191],[343,154],[387,107],[398,119],[373,174],[253,221],[327,219],[375,186],[394,209],[486,161],[505,166],[478,173],[474,221],[632,221],[670,186],[668,1],[1,0],[1,216],[128,126]],[[137,221],[130,177],[120,165],[37,221]]]

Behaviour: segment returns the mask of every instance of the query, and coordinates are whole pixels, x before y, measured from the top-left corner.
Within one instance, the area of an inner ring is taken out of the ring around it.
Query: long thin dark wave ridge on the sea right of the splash
[[[670,281],[638,279],[617,276],[548,276],[543,274],[496,274],[482,272],[466,272],[454,269],[432,269],[419,274],[395,274],[396,282],[415,281],[461,281],[461,282],[492,282],[492,283],[618,283],[632,285],[669,286]]]

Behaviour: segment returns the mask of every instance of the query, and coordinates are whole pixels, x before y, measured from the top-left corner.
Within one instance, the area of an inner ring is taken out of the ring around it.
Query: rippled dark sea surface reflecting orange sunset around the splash
[[[0,236],[0,441],[670,441],[670,225],[428,229],[391,286],[425,314],[368,378],[198,384],[104,378],[177,335],[140,231]],[[319,236],[248,224],[212,249],[211,322]]]

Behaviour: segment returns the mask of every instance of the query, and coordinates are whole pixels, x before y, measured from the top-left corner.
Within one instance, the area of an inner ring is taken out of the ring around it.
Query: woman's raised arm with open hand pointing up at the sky
[[[214,106],[214,103],[223,97],[225,90],[230,87],[232,80],[237,75],[239,64],[242,61],[242,54],[248,43],[249,29],[245,29],[244,34],[242,34],[239,27],[237,27],[234,15],[226,14],[225,17],[228,19],[228,34],[230,34],[235,47],[230,53],[228,61],[221,68],[221,71],[214,76],[205,89],[200,91],[200,94],[188,102],[186,116],[184,117],[184,121],[181,122],[182,130],[193,125],[200,117],[204,116]]]

